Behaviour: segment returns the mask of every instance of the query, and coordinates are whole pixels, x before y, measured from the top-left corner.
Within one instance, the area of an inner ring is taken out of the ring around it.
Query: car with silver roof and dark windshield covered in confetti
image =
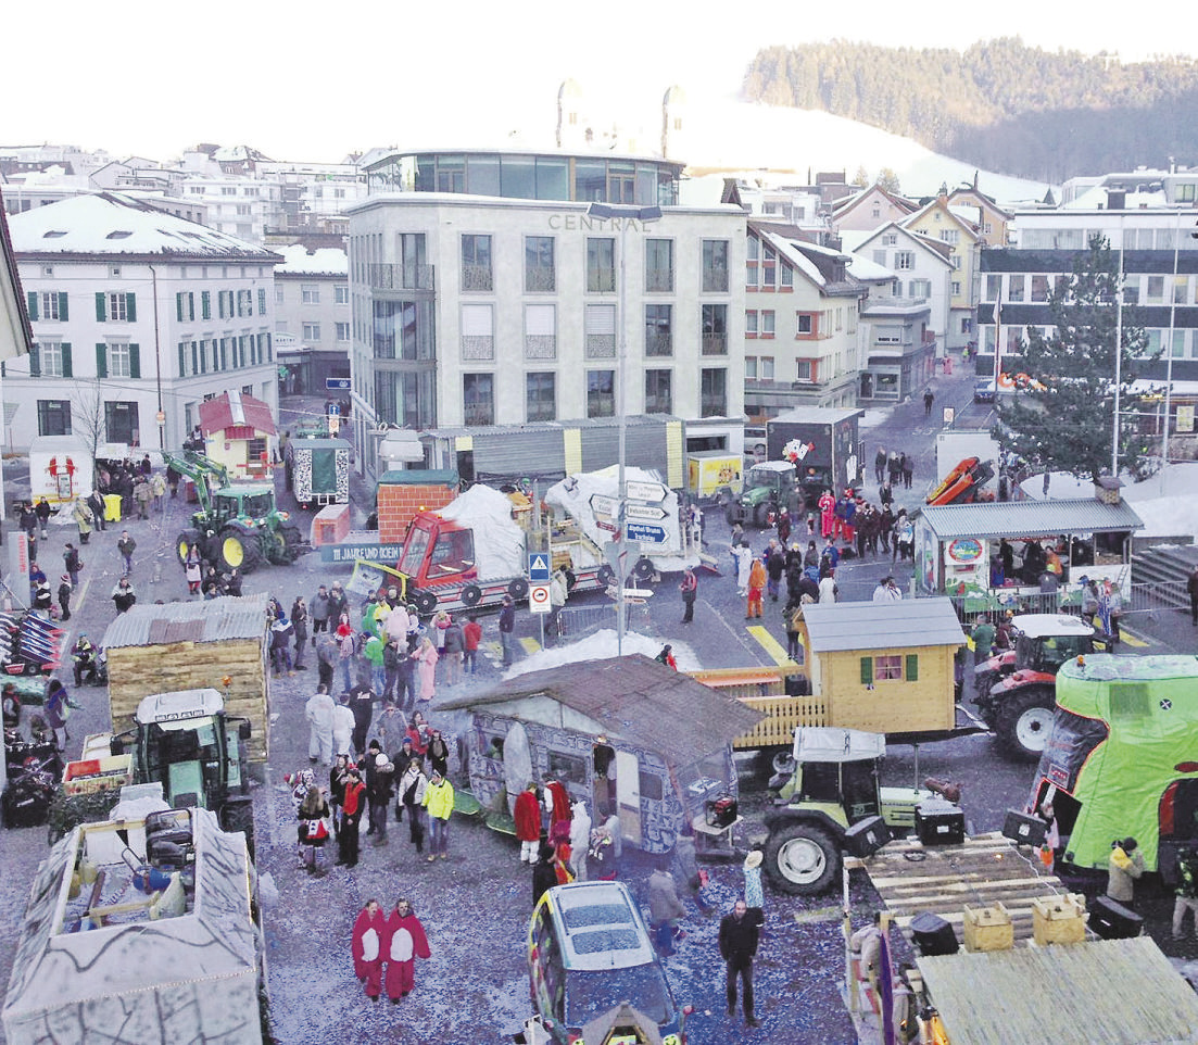
[[[685,1045],[689,1007],[673,999],[641,911],[622,882],[556,886],[528,925],[528,977],[541,1027],[556,1045],[629,1002],[658,1025],[664,1045]]]

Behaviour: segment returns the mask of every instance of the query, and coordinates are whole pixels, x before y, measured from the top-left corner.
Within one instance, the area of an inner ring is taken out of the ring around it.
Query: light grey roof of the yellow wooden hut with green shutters
[[[812,603],[803,610],[812,653],[889,650],[893,646],[961,646],[964,634],[952,600]]]

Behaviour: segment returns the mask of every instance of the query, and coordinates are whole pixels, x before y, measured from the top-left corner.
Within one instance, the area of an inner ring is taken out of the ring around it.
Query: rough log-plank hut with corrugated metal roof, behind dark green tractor
[[[133,725],[141,697],[211,687],[249,719],[252,762],[267,755],[265,594],[137,605],[104,633],[113,731]],[[225,684],[224,679],[229,683]]]

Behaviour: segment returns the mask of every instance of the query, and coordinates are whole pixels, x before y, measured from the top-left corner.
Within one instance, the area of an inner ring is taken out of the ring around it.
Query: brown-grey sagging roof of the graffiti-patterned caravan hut
[[[683,766],[731,744],[762,718],[736,697],[640,653],[532,671],[438,709],[494,709],[532,697],[557,701],[600,723],[609,736]]]

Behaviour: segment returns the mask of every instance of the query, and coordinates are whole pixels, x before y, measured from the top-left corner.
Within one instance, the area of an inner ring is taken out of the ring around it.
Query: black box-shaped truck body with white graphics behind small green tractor
[[[809,507],[824,490],[861,485],[860,419],[864,410],[801,406],[766,422],[766,452],[789,461]]]

